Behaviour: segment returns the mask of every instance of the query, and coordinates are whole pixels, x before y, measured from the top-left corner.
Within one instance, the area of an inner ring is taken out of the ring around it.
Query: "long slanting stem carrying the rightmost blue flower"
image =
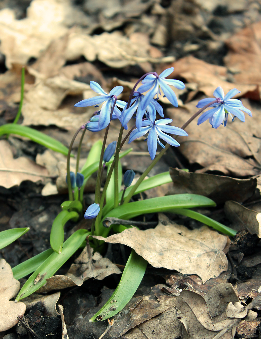
[[[218,98],[219,99],[219,98]],[[205,105],[204,107],[202,107],[197,113],[193,114],[191,118],[188,119],[188,121],[186,121],[184,123],[184,125],[181,127],[182,129],[186,128],[191,121],[193,121],[195,118],[197,118],[197,116],[204,111],[204,109],[206,109],[207,107],[209,107],[210,105],[217,103],[218,99],[211,101],[210,103],[208,103],[207,105]],[[173,137],[173,136],[172,136]],[[135,183],[135,185],[132,186],[132,189],[130,191],[130,193],[127,195],[127,197],[124,200],[124,204],[128,203],[131,199],[131,197],[133,196],[134,192],[136,191],[137,187],[142,183],[143,179],[148,175],[148,173],[151,171],[151,169],[155,166],[155,164],[160,160],[160,158],[163,156],[163,154],[167,151],[167,149],[169,148],[169,144],[166,145],[165,148],[163,148],[161,150],[161,152],[154,158],[154,160],[152,160],[151,164],[145,169],[145,171],[143,172],[143,174],[139,177],[139,179],[137,180],[137,182]]]

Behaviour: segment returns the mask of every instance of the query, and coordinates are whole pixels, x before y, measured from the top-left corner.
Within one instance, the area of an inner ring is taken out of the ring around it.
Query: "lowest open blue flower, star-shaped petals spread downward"
[[[148,151],[151,160],[153,160],[156,155],[157,144],[159,144],[162,148],[165,148],[165,146],[160,142],[159,138],[165,140],[171,146],[180,145],[178,141],[173,139],[171,136],[165,134],[164,132],[175,135],[188,136],[187,132],[179,127],[165,126],[170,122],[172,122],[172,119],[161,119],[154,122],[150,120],[144,120],[142,122],[141,131],[138,131],[138,129],[135,128],[130,134],[130,140],[128,143],[149,132],[149,135],[145,140],[148,140]]]

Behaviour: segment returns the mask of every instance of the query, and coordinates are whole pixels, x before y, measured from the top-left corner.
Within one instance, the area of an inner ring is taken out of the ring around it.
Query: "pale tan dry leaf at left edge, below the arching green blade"
[[[0,141],[0,185],[6,188],[20,185],[24,180],[36,182],[48,177],[46,168],[25,157],[13,158],[8,141]]]

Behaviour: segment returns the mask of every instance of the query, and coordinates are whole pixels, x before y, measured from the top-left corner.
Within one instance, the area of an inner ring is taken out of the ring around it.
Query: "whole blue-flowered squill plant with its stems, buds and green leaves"
[[[163,94],[168,98],[173,106],[178,106],[178,100],[171,86],[183,89],[185,88],[185,85],[179,80],[166,79],[166,77],[172,72],[173,67],[166,69],[160,75],[155,72],[145,74],[133,87],[127,103],[118,100],[117,98],[123,91],[122,86],[114,87],[109,94],[107,94],[99,84],[91,81],[91,88],[99,95],[90,99],[82,100],[75,104],[77,107],[99,107],[100,111],[94,112],[90,121],[80,126],[72,139],[67,158],[69,200],[61,204],[62,211],[56,217],[52,226],[50,236],[52,250],[48,250],[52,252],[45,253],[45,251],[40,254],[41,256],[38,255],[40,257],[38,257],[37,260],[38,263],[40,262],[41,264],[22,287],[16,299],[17,301],[30,295],[41,287],[45,283],[46,278],[51,277],[63,264],[63,262],[65,262],[79,247],[82,246],[82,243],[87,236],[90,236],[89,242],[94,250],[103,252],[104,242],[95,239],[96,236],[107,237],[109,232],[122,232],[124,229],[131,227],[123,225],[114,225],[113,228],[112,226],[106,227],[102,221],[108,217],[128,220],[141,214],[168,211],[197,219],[225,234],[231,236],[236,234],[236,231],[231,228],[226,227],[200,213],[190,210],[192,207],[215,206],[215,202],[203,196],[195,194],[177,194],[130,202],[134,194],[172,181],[168,172],[148,179],[145,179],[145,177],[149,174],[152,167],[157,161],[159,161],[170,145],[179,146],[178,141],[174,139],[174,135],[187,136],[188,134],[184,131],[184,128],[207,107],[213,108],[201,115],[198,120],[198,124],[209,119],[212,127],[217,128],[222,123],[224,126],[226,125],[228,115],[232,114],[238,117],[241,121],[244,121],[244,114],[242,111],[251,116],[251,112],[242,105],[240,100],[231,99],[234,95],[239,93],[236,88],[231,89],[227,95],[224,95],[222,88],[218,87],[214,92],[215,98],[200,100],[197,105],[200,110],[195,113],[181,128],[170,125],[172,120],[164,118],[163,108],[157,100],[159,99],[159,95]],[[136,88],[140,82],[141,86]],[[145,92],[147,93],[145,94]],[[122,109],[122,111],[120,111],[119,108]],[[156,120],[156,112],[162,119]],[[135,126],[128,131],[128,123],[132,117],[136,118]],[[110,122],[112,119],[118,119],[122,126],[120,128],[117,142],[114,141],[109,144],[105,152],[107,135],[109,133]],[[232,120],[234,120],[234,118],[232,118]],[[86,164],[80,171],[81,176],[79,174],[77,176],[79,169],[80,147],[84,133],[86,130],[97,132],[104,128],[106,129],[103,143],[101,144],[100,142],[97,142],[93,145]],[[122,140],[124,130],[127,130],[128,133]],[[74,173],[70,173],[70,153],[73,142],[80,131],[83,131],[83,133],[79,142],[76,172],[74,175]],[[119,158],[131,151],[131,149],[129,149],[126,152],[120,153],[120,149],[128,138],[128,142],[131,143],[133,140],[142,136],[145,136],[145,141],[147,141],[148,151],[152,162],[134,184],[132,184],[132,180],[134,179],[135,173],[132,170],[127,171],[124,175],[124,190],[120,191],[122,171]],[[166,142],[166,144],[164,145],[163,142]],[[157,145],[161,146],[162,150],[156,156]],[[107,179],[104,184],[103,191],[100,194],[101,174],[105,166],[107,166]],[[95,171],[98,171],[95,199],[94,203],[89,206],[85,212],[85,218],[93,219],[91,231],[78,230],[74,232],[70,238],[63,242],[63,225],[70,219],[77,220],[80,216],[82,216],[83,189],[86,181]],[[112,176],[113,172],[114,175]],[[73,190],[76,185],[78,190]],[[81,185],[81,187],[79,187],[79,185]],[[61,252],[63,256],[60,255]],[[27,274],[33,272],[32,267],[29,272],[29,266],[30,265],[27,263]],[[118,287],[108,302],[90,319],[90,321],[108,319],[118,313],[135,293],[141,279],[143,278],[146,266],[146,260],[138,256],[132,250]],[[21,272],[22,268],[15,268],[15,272],[19,277],[21,277],[19,272]],[[45,274],[44,279],[42,279],[39,284],[35,285],[33,283],[34,279],[38,275],[41,276],[42,274]]]

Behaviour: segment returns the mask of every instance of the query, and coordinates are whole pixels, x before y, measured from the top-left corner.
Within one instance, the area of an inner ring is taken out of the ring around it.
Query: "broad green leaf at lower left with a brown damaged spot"
[[[21,291],[15,301],[17,302],[28,297],[30,294],[36,292],[40,287],[42,287],[45,284],[46,279],[51,278],[53,274],[74,254],[74,252],[78,250],[88,234],[90,234],[90,232],[87,230],[78,230],[74,232],[70,238],[63,243],[62,253],[52,253],[29,277],[21,288]],[[38,282],[35,281],[37,276],[40,278]]]

